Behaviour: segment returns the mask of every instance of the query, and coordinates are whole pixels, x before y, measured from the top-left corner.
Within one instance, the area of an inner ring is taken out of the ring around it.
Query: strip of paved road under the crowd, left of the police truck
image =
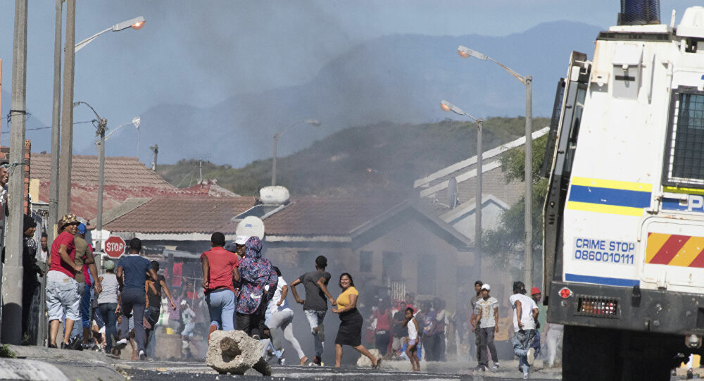
[[[203,363],[187,362],[151,362],[151,361],[120,361],[118,368],[121,368],[132,380],[227,380],[237,378],[238,380],[262,380],[258,373],[245,376],[218,375]],[[157,370],[159,368],[159,370]],[[550,375],[535,373],[532,380],[555,380]],[[548,376],[543,378],[541,376]],[[522,378],[515,370],[503,370],[500,373],[482,373],[472,375],[469,371],[463,374],[444,374],[439,372],[412,373],[394,369],[372,370],[369,368],[329,368],[313,366],[272,366],[272,379],[274,380],[344,380],[344,381],[403,381],[403,380],[487,380],[503,381],[517,380]]]

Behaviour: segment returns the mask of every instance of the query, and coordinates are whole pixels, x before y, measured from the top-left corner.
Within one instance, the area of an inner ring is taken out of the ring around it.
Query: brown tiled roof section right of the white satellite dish
[[[398,202],[306,196],[264,220],[268,235],[349,235]]]

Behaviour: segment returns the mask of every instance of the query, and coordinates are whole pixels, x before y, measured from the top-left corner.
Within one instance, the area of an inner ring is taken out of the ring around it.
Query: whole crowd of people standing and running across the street
[[[282,271],[263,257],[263,242],[258,237],[238,236],[226,244],[225,235],[215,232],[210,238],[210,250],[201,255],[200,284],[184,277],[174,298],[165,278],[158,274],[159,263],[141,255],[139,239],[129,242],[128,254],[117,263],[105,261],[104,271],[99,274],[92,246],[85,240],[86,226],[68,214],[61,218],[58,227],[60,234],[51,249],[46,247],[44,236],[41,248],[37,248],[32,239],[36,223],[25,218],[25,257],[43,255],[49,268],[44,274],[36,261],[27,259],[25,272],[31,276],[25,276],[24,287],[33,291],[27,296],[26,305],[36,299],[38,277],[46,276],[49,347],[97,347],[111,356],[120,356],[120,351],[131,344],[132,358],[145,359],[155,356],[156,327],[163,324],[180,335],[186,351],[194,346],[194,335],[201,335],[204,350],[215,330],[241,330],[265,343],[263,356],[267,359],[276,357],[279,363],[285,363],[285,339],[296,351],[299,364],[306,365],[309,357],[296,339],[295,313],[287,301],[291,292],[296,303],[302,305],[310,327],[311,365],[323,365],[328,308],[339,317],[334,340],[336,367],[341,366],[344,346],[351,346],[367,357],[374,368],[382,360],[402,359],[419,371],[421,361],[446,361],[447,354],[458,353],[460,343],[468,342],[472,333],[477,355],[475,372],[498,370],[498,335],[510,340],[524,377],[529,376],[536,356],[543,356],[543,362],[553,366],[559,353],[562,327],[546,325],[545,307],[539,303],[540,290],[534,287],[527,296],[522,282],[513,285],[513,294],[508,298],[510,311],[500,311],[501,302],[491,296],[490,285],[475,282],[476,295],[467,303],[471,313],[465,324],[460,313],[463,306],[451,313],[446,310],[445,301],[437,297],[421,300],[415,306],[415,296],[410,293],[403,301],[393,301],[387,295],[367,296],[373,301],[368,309],[359,304],[360,292],[350,273],[339,276],[339,296],[333,296],[329,289],[332,275],[326,270],[325,256],[315,258],[315,269],[289,284]],[[304,294],[298,293],[298,285],[303,285]],[[162,313],[163,300],[168,300],[166,318]],[[31,311],[23,309],[27,314],[23,323],[30,322]],[[501,332],[510,331],[502,325],[506,319],[513,320],[512,332]],[[542,335],[541,329],[545,330]],[[27,330],[23,326],[23,331]],[[454,349],[448,349],[448,343]],[[378,351],[378,357],[370,347]],[[545,354],[541,354],[541,348]]]

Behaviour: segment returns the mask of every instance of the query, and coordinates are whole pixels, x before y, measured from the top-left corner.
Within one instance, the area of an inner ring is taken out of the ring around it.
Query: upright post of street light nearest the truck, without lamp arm
[[[526,85],[526,161],[525,161],[525,285],[533,287],[533,77],[525,77]]]

